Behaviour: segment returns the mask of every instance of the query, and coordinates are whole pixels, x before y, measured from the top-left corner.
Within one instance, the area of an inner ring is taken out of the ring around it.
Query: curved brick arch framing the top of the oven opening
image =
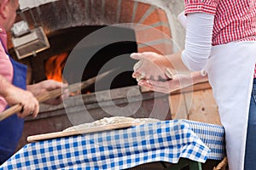
[[[140,24],[143,26],[132,26],[139,52],[172,53],[171,29],[166,12],[149,3],[135,0],[59,0],[32,8],[25,14],[31,27],[34,24],[33,14],[36,24],[43,26],[47,35],[79,26]]]

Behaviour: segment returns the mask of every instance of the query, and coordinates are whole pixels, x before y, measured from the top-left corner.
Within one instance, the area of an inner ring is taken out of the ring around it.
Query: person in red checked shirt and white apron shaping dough
[[[131,54],[132,59],[139,60],[133,77],[140,77],[139,85],[168,93],[175,83],[177,87],[186,87],[206,79],[201,74],[206,72],[225,128],[230,170],[256,169],[253,161],[256,108],[251,96],[252,89],[256,94],[255,0],[184,0],[184,3],[187,18],[184,50],[171,55]],[[172,80],[166,77],[166,69],[174,74]],[[158,77],[167,81],[160,82]]]

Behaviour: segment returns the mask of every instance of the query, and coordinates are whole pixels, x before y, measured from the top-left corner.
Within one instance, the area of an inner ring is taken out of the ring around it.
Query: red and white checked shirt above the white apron
[[[214,14],[213,46],[234,41],[256,41],[256,0],[184,0],[184,2],[185,14]],[[254,77],[256,77],[256,68]]]

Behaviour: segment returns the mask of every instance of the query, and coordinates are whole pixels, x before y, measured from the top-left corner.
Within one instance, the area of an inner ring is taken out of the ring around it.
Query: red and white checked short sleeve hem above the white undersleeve
[[[220,0],[184,0],[185,14],[206,13],[216,14],[216,8]]]

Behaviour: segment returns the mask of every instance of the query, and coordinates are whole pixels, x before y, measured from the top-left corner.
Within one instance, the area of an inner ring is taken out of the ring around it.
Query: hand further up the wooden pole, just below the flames
[[[34,94],[35,96],[44,94],[48,91],[55,90],[57,88],[63,88],[63,89],[67,88],[67,83],[56,82],[55,80],[45,80],[45,81],[27,86],[27,90],[31,91],[32,94]],[[61,104],[63,99],[66,99],[68,96],[69,96],[68,89],[64,89],[60,97],[55,99],[48,99],[44,101],[44,103],[49,105],[59,105]]]

